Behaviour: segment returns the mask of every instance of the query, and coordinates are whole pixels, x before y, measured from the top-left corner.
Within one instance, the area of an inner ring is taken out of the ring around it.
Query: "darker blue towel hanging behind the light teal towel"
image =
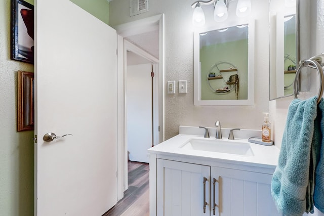
[[[321,139],[321,146],[316,146],[314,148],[314,154],[316,155],[316,161],[318,161],[316,170],[315,170],[315,188],[314,188],[314,205],[318,210],[324,213],[324,101],[321,101],[318,104],[317,117],[318,128],[320,128],[319,133]],[[318,150],[319,149],[319,150]],[[319,152],[319,153],[318,153]]]

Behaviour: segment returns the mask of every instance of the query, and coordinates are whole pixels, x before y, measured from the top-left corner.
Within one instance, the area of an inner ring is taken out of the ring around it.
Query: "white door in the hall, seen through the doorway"
[[[129,159],[148,163],[152,146],[151,64],[127,67],[127,148]]]

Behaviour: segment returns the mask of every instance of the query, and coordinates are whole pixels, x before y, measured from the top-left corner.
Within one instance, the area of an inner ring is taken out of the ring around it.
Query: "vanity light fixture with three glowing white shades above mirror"
[[[286,0],[287,1],[287,0]],[[289,0],[294,1],[294,0]],[[295,0],[296,1],[296,0]],[[205,14],[201,6],[214,5],[214,20],[223,22],[228,17],[228,0],[210,0],[196,1],[191,7],[194,8],[192,15],[192,24],[197,27],[205,25]],[[236,7],[236,15],[238,17],[246,17],[251,12],[251,0],[238,0]]]

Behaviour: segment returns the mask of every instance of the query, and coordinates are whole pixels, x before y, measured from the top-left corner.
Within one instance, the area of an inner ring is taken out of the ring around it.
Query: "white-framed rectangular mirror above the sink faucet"
[[[194,32],[194,105],[253,105],[254,21]]]

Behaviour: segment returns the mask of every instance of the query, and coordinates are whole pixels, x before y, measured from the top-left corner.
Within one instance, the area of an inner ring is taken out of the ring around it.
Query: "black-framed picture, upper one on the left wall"
[[[11,0],[10,59],[34,63],[34,6]]]

